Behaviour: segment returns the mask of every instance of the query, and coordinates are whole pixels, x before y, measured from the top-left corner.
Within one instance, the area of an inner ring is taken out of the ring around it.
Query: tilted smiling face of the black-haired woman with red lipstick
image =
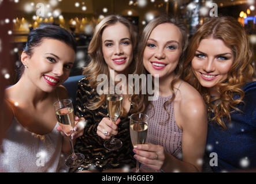
[[[31,56],[23,52],[21,61],[27,65],[23,75],[41,90],[50,92],[68,79],[75,62],[75,51],[62,41],[43,39],[32,50]]]

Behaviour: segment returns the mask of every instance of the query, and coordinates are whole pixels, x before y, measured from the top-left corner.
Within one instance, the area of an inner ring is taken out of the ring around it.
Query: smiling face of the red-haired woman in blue
[[[225,81],[235,57],[231,48],[220,39],[203,39],[192,59],[192,71],[203,87],[214,89]]]

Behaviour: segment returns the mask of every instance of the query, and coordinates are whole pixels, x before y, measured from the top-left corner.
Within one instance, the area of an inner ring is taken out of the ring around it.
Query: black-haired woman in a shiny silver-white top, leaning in
[[[59,26],[29,33],[21,54],[21,78],[5,90],[6,110],[1,114],[6,127],[0,153],[2,171],[68,171],[62,153],[68,154],[71,147],[69,139],[61,136],[53,104],[68,98],[61,83],[68,79],[75,51],[73,36]],[[81,132],[83,128],[77,127],[74,139]]]

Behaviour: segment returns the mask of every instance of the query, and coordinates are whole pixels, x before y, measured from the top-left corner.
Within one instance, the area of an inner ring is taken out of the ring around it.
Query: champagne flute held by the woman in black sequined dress
[[[118,94],[118,87],[110,87],[109,93],[107,94],[107,112],[109,113],[110,120],[114,123],[116,122],[118,116],[120,115],[122,104],[123,104],[123,95]],[[118,150],[122,147],[122,141],[120,139],[112,138],[104,142],[104,147],[107,150]]]

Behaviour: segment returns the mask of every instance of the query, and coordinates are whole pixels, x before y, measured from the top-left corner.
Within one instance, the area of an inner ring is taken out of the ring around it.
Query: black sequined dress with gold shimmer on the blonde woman
[[[84,128],[83,136],[76,139],[75,152],[84,154],[85,160],[76,171],[81,170],[99,170],[113,168],[132,168],[135,167],[135,159],[133,158],[132,143],[129,134],[129,116],[120,117],[121,122],[118,124],[118,135],[115,138],[123,142],[122,147],[117,151],[107,150],[101,137],[97,135],[97,127],[103,117],[108,117],[106,103],[96,110],[86,108],[88,99],[97,101],[99,95],[96,90],[92,89],[87,77],[81,79],[78,83],[76,94],[76,115],[84,117],[87,121]]]

